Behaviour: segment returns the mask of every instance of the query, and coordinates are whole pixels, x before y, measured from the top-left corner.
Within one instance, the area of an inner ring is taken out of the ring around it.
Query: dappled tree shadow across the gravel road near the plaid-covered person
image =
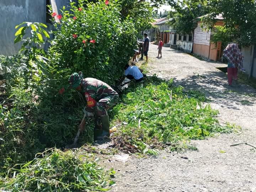
[[[229,86],[226,74],[204,72],[202,75],[188,75],[183,79],[174,78],[174,83],[187,90],[198,90],[206,94],[212,102],[218,102],[228,108],[240,110],[237,105],[251,106],[256,101],[256,90],[244,84]]]

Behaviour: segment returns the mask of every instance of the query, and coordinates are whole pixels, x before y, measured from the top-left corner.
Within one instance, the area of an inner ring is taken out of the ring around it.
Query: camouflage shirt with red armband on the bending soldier
[[[82,92],[85,94],[87,107],[94,107],[104,97],[118,95],[108,84],[94,78],[82,80]]]

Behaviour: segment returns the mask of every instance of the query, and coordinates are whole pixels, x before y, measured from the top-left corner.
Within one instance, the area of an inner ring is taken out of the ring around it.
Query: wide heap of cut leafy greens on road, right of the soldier
[[[163,145],[191,148],[185,144],[191,139],[232,131],[232,126],[220,125],[217,110],[203,106],[204,94],[173,86],[172,80],[148,77],[143,84],[131,84],[121,100],[112,110],[112,124],[127,123],[114,136],[114,146],[124,151],[152,153],[150,146]]]

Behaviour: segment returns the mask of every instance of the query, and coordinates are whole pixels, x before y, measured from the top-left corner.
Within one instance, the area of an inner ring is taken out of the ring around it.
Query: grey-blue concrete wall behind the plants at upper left
[[[58,9],[69,0],[56,0]],[[14,45],[15,26],[28,22],[46,23],[46,0],[0,0],[0,55],[16,54],[20,44]]]

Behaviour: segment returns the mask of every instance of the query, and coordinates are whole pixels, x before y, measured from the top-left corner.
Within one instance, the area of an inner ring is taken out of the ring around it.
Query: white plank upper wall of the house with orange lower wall
[[[197,24],[197,28],[194,30],[194,44],[210,45],[211,32],[203,31],[201,24]]]

